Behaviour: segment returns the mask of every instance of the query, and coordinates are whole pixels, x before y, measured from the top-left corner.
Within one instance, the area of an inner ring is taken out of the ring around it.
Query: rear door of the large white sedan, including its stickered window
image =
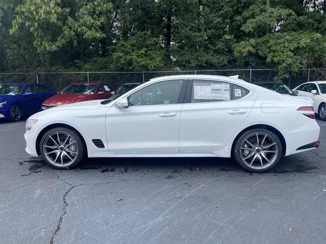
[[[189,80],[180,118],[180,151],[221,150],[249,115],[255,92],[218,80]]]

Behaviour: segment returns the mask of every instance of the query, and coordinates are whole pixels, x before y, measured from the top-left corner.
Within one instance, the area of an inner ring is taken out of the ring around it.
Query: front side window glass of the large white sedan
[[[176,104],[182,82],[182,80],[169,80],[148,85],[131,94],[129,104],[131,106]]]

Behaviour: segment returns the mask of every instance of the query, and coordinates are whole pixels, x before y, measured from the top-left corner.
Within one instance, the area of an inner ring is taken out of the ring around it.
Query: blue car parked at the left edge
[[[23,115],[39,112],[42,102],[55,94],[55,90],[35,83],[0,84],[0,118],[19,121]]]

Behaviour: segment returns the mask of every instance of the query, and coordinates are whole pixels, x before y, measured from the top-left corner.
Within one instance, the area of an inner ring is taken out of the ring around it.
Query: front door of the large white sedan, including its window
[[[110,152],[179,151],[180,112],[186,81],[167,80],[147,85],[128,97],[128,108],[108,109]]]

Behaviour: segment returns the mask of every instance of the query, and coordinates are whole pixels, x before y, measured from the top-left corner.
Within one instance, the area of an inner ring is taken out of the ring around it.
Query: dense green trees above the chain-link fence
[[[287,77],[324,68],[324,4],[0,0],[0,72],[265,66]]]

